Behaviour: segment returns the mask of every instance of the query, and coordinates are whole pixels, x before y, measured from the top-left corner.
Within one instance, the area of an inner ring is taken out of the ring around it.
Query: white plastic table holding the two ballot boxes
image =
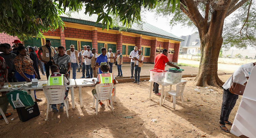
[[[149,80],[149,82],[150,82],[150,100],[151,100],[151,94],[152,94],[152,91],[153,91],[153,84],[154,84],[154,81],[152,81],[152,80]],[[180,82],[186,82],[185,80],[181,80]],[[159,84],[159,85],[162,85],[162,89],[161,89],[161,98],[160,98],[160,106],[162,105],[162,100],[163,100],[163,93],[164,93],[164,89],[165,89],[165,86],[170,86],[170,91],[172,90],[172,85],[175,85],[175,84],[178,84],[178,83],[180,83],[180,82],[173,82],[173,83],[171,83],[171,82],[166,82],[166,81],[164,81],[164,82],[158,82],[157,84]]]

